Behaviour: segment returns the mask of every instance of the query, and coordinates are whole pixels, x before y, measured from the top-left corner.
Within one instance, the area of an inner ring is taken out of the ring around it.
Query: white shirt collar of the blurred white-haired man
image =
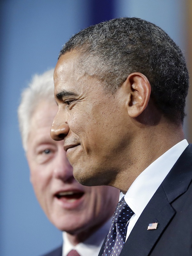
[[[79,243],[75,246],[69,242],[66,232],[63,232],[62,256],[67,256],[71,250],[76,250],[80,256],[98,256],[103,241],[111,227],[112,219],[113,217],[111,217],[83,243]]]

